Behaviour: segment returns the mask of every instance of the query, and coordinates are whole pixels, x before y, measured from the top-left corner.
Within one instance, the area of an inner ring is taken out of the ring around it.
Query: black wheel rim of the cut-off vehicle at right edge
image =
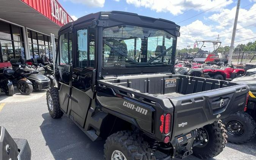
[[[243,135],[245,128],[243,124],[239,121],[230,121],[226,124],[227,132],[232,136]]]

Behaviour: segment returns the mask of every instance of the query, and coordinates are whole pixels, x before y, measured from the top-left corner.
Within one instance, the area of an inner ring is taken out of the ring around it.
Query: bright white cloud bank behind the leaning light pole
[[[256,4],[249,9],[240,9],[235,42],[242,42],[235,43],[235,46],[256,40],[256,38],[250,39],[256,37],[255,11]],[[221,37],[220,41],[222,41],[222,45],[230,45],[235,14],[236,7],[223,9],[221,13],[210,16],[210,22],[203,24],[200,20],[196,20],[191,24],[182,26],[180,30],[181,37],[177,41],[178,46],[180,46],[179,49],[185,48],[187,45],[193,46],[196,40],[217,40],[218,34]],[[243,41],[245,39],[248,40]]]

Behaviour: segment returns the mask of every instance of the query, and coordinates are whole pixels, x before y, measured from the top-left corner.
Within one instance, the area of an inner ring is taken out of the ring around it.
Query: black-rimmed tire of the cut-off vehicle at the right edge
[[[256,122],[246,112],[237,112],[223,119],[228,141],[235,144],[243,144],[251,141],[255,137]]]

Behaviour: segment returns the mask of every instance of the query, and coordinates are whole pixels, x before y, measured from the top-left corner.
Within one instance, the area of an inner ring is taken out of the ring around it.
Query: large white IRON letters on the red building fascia
[[[73,21],[71,17],[69,17],[64,11],[64,9],[61,8],[61,6],[56,2],[56,0],[51,0],[51,11],[52,17],[61,22],[63,25]]]

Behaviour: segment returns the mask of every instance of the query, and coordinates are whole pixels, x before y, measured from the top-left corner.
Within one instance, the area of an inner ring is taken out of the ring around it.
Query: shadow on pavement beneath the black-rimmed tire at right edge
[[[256,138],[245,144],[228,143],[226,146],[237,151],[243,152],[245,154],[256,156]]]

